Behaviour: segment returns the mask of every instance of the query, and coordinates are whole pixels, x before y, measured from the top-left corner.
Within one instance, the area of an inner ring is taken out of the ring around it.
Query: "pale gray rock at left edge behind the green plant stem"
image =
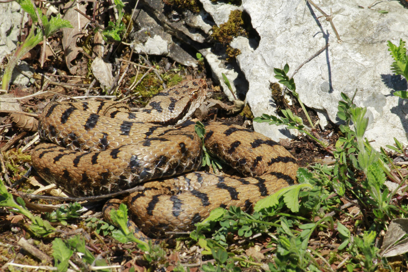
[[[0,14],[0,63],[2,63],[3,58],[17,48],[22,9],[17,2],[1,3]],[[23,25],[27,20],[26,14]]]

